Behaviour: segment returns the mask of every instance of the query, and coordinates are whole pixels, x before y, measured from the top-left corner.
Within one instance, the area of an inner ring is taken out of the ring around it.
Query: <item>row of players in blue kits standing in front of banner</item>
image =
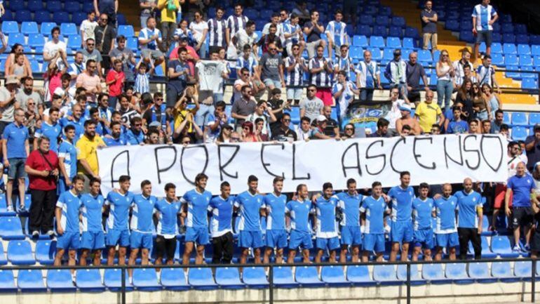
[[[205,245],[212,242],[212,263],[231,263],[234,251],[234,233],[238,233],[241,249],[239,263],[246,263],[252,249],[255,263],[270,263],[274,254],[276,263],[295,263],[297,250],[301,260],[310,262],[315,236],[316,263],[328,251],[329,261],[346,262],[350,253],[352,262],[367,262],[374,253],[383,260],[385,233],[392,247],[389,260],[394,261],[401,252],[407,260],[410,246],[412,260],[423,255],[440,260],[447,249],[450,260],[466,258],[471,241],[475,258],[480,258],[482,227],[482,197],[473,190],[473,182],[466,178],[461,191],[452,194],[452,185],[443,185],[443,194],[428,197],[429,185],[421,183],[418,196],[410,184],[410,173],[400,173],[400,185],[386,194],[382,183],[374,182],[370,196],[360,194],[356,180],[347,180],[346,191],[336,193],[332,183],[324,183],[320,194],[309,197],[306,185],[297,185],[292,199],[281,191],[283,178],[274,178],[274,191],[260,194],[256,176],[248,178],[248,190],[232,196],[228,182],[221,184],[220,194],[212,197],[205,190],[208,176],[199,173],[196,187],[180,199],[176,186],[165,185],[166,197],[152,196],[149,180],[142,181],[142,194],[130,192],[130,177],[119,178],[119,188],[103,197],[100,180],[90,181],[90,192],[83,191],[83,178],[76,176],[73,187],[63,192],[56,204],[58,232],[55,265],[61,265],[68,253],[68,265],[75,265],[76,251],[81,249],[79,263],[86,265],[93,256],[93,264],[100,265],[101,251],[107,249],[107,265],[114,265],[118,253],[119,265],[135,265],[140,253],[141,264],[148,265],[152,246],[156,246],[155,264],[165,259],[174,263],[177,234],[185,234],[182,264],[189,264],[193,251],[195,263],[204,263]],[[365,191],[365,190],[364,190]],[[102,225],[102,214],[107,214]],[[266,232],[262,218],[266,218]],[[154,222],[155,220],[155,222]],[[436,225],[433,225],[435,220]],[[154,230],[154,223],[156,223]],[[234,229],[233,227],[236,227]],[[157,237],[154,245],[153,232]],[[105,233],[106,232],[106,233]],[[210,239],[211,238],[211,239]],[[118,246],[118,250],[116,247]],[[129,256],[127,249],[130,248]],[[262,250],[264,249],[264,250]],[[284,256],[288,249],[288,256]],[[130,272],[131,274],[131,272]],[[130,275],[131,277],[131,275]]]

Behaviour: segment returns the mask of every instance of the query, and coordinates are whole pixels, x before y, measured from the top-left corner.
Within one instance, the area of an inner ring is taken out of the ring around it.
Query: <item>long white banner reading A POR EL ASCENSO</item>
[[[259,191],[271,192],[272,180],[283,176],[283,192],[300,183],[310,191],[331,182],[345,189],[354,178],[358,188],[378,180],[383,187],[399,184],[399,172],[410,171],[412,185],[419,183],[502,182],[507,178],[506,139],[498,135],[416,136],[311,140],[296,143],[240,143],[223,145],[146,145],[107,147],[97,151],[102,191],[118,187],[121,175],[131,176],[131,191],[150,180],[153,193],[164,196],[166,183],[177,194],[194,187],[198,173],[208,175],[207,190],[220,193],[227,180],[233,194],[247,190],[248,176],[259,178]]]

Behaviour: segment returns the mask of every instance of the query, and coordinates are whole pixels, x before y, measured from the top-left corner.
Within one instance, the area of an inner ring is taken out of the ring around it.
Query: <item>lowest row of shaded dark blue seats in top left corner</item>
[[[91,2],[88,2],[91,4]],[[37,23],[43,23],[43,22],[74,22],[78,25],[83,22],[87,18],[87,12],[86,11],[76,11],[74,13],[68,13],[67,11],[55,11],[52,14],[48,11],[36,11],[35,13],[32,13],[28,10],[23,11],[7,11],[2,15],[0,18],[1,21],[17,21],[19,23],[25,22],[25,21],[34,21]],[[119,25],[125,25],[127,24],[126,17],[119,13],[116,15],[116,20],[118,21]]]

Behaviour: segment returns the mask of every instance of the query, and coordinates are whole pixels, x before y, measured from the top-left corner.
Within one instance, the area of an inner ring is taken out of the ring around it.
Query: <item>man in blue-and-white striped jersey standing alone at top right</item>
[[[486,55],[491,55],[493,24],[497,19],[499,15],[493,6],[490,6],[490,0],[482,0],[482,4],[473,8],[473,34],[476,36],[475,58],[478,58],[478,50],[482,42],[485,42]]]

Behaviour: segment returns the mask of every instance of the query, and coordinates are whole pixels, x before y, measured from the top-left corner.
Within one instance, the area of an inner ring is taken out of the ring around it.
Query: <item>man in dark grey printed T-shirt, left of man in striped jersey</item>
[[[283,78],[283,59],[278,54],[276,44],[268,45],[269,53],[262,54],[259,60],[259,74],[269,91],[274,88],[282,88],[285,86]]]

